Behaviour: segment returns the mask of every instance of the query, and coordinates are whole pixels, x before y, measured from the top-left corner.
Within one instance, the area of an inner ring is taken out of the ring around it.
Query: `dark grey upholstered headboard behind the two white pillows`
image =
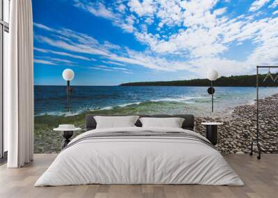
[[[128,115],[99,115],[99,114],[87,114],[85,116],[85,129],[87,131],[95,129],[97,127],[97,122],[94,116],[128,116]],[[166,115],[166,114],[157,114],[157,115],[136,115],[140,117],[151,117],[151,118],[184,118],[182,128],[193,131],[194,130],[194,116],[192,114],[177,114],[177,115]],[[142,123],[138,119],[135,123],[137,127],[142,127]]]

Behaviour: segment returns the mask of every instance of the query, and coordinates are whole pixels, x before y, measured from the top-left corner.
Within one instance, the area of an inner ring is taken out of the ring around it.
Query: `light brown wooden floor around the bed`
[[[33,187],[56,154],[35,154],[30,165],[0,167],[0,197],[278,197],[278,155],[263,154],[261,161],[247,154],[224,156],[245,186],[201,185],[85,185]]]

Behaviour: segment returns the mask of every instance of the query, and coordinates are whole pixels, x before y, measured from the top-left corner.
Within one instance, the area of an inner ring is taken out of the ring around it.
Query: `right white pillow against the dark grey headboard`
[[[181,128],[184,118],[140,118],[142,127]]]

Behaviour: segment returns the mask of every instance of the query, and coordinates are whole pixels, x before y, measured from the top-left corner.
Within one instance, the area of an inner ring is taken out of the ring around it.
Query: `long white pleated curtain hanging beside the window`
[[[31,0],[10,1],[10,64],[4,77],[8,168],[33,160],[33,16]]]

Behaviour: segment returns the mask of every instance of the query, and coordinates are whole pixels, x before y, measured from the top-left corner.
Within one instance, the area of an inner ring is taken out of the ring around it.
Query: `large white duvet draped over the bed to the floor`
[[[94,129],[71,143],[90,133],[142,130],[200,136],[185,129],[128,127]],[[88,183],[244,185],[222,155],[205,143],[171,137],[113,137],[80,141],[63,150],[35,186]]]

